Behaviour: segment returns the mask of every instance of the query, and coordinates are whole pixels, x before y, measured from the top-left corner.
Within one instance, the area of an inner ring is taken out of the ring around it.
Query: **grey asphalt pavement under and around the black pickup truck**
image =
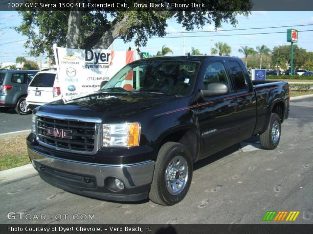
[[[197,162],[190,190],[175,206],[74,195],[36,175],[0,183],[0,223],[264,223],[267,211],[299,211],[292,223],[313,223],[313,98],[291,101],[290,111],[277,149],[261,150],[252,137]],[[9,212],[52,219],[9,220]],[[94,219],[74,220],[74,214]]]

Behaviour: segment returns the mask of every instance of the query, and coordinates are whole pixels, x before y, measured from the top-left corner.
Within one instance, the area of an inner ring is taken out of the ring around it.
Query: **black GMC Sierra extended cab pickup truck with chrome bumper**
[[[251,81],[236,58],[137,60],[98,92],[36,108],[28,155],[66,191],[174,205],[195,161],[255,135],[275,149],[289,98],[287,82]]]

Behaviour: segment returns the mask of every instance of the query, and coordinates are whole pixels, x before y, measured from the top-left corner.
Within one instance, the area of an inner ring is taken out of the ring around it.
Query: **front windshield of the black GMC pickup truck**
[[[200,62],[148,60],[126,65],[101,90],[188,95]]]

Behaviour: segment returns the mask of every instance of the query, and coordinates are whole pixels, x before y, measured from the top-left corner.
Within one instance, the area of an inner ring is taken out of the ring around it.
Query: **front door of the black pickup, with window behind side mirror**
[[[201,75],[200,75],[201,76]],[[224,61],[209,62],[206,65],[201,89],[205,90],[212,82],[224,82],[230,87],[230,93],[198,100],[198,119],[201,134],[200,158],[214,154],[233,144],[239,132],[239,122],[234,117],[237,98],[233,97],[233,88],[227,75]]]

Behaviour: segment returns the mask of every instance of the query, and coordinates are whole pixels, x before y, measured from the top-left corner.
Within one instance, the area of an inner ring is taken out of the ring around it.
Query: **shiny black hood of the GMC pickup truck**
[[[97,92],[70,101],[50,102],[39,107],[37,111],[47,115],[98,117],[103,121],[114,121],[140,114],[174,99],[177,97],[150,92]]]

